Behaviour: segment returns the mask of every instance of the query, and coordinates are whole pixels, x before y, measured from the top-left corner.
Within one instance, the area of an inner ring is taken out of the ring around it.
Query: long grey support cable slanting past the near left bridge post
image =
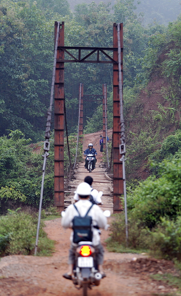
[[[43,199],[43,186],[44,186],[44,179],[45,179],[45,168],[47,157],[49,155],[48,151],[50,151],[50,126],[51,126],[51,117],[52,117],[52,105],[53,105],[53,93],[54,93],[54,84],[55,84],[55,68],[56,68],[56,59],[57,59],[57,47],[58,47],[58,36],[60,31],[60,22],[57,25],[57,35],[55,41],[55,53],[54,53],[54,63],[53,63],[53,75],[52,75],[52,84],[51,84],[51,93],[50,93],[50,107],[47,110],[47,123],[46,123],[46,130],[45,130],[45,141],[44,141],[44,162],[43,162],[43,175],[42,175],[42,186],[41,186],[41,194],[40,194],[40,202],[39,202],[39,216],[38,216],[38,225],[36,231],[36,245],[35,245],[35,252],[36,255],[37,247],[38,247],[38,238],[39,238],[39,228],[40,228],[40,220],[41,220],[41,210],[42,210],[42,199]]]

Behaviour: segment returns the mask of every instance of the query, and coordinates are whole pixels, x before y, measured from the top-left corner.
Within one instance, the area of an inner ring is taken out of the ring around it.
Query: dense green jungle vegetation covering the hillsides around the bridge
[[[63,0],[51,1],[51,4],[42,0],[0,1],[0,214],[19,205],[36,208],[39,204],[42,141],[53,68],[54,21],[65,22],[67,46],[102,47],[112,47],[113,22],[123,22],[128,246],[136,250],[158,250],[158,255],[165,258],[181,259],[181,16],[177,17],[180,8],[177,9],[175,1],[159,3],[160,6],[155,3],[153,8],[160,18],[162,16],[162,20],[157,19],[160,23],[149,14],[149,1],[142,1],[145,16],[140,14],[141,10],[137,13],[139,5],[134,0],[117,0],[112,5],[94,1],[79,3],[74,11],[70,10],[68,1]],[[173,19],[167,25],[167,7],[171,3]],[[155,90],[158,102],[146,108],[153,94],[149,83],[159,79],[162,83]],[[112,65],[72,63],[65,67],[72,157],[79,83],[84,83],[85,94],[101,94],[102,83],[107,83],[108,127],[111,128]],[[99,131],[102,105],[86,102],[83,120],[84,133]],[[35,144],[37,142],[39,144]],[[69,161],[66,149],[65,168]],[[145,168],[146,177],[139,175],[140,168]],[[52,200],[53,125],[43,206],[51,205]],[[10,214],[6,219],[16,218],[17,213]],[[4,220],[1,221],[4,225]],[[124,228],[123,215],[118,215],[112,226],[112,242],[124,245]],[[11,236],[7,228],[2,229],[0,247],[5,252]]]

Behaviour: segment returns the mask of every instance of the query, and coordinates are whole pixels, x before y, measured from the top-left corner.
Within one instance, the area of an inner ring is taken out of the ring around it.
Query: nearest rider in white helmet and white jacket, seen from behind
[[[88,183],[80,183],[76,190],[79,200],[76,202],[76,207],[82,217],[85,216],[88,209],[92,205],[89,200],[89,196],[91,194],[91,187]],[[64,228],[72,228],[72,220],[77,216],[77,210],[75,209],[74,205],[69,205],[65,210],[65,215],[62,217],[61,224]],[[92,217],[92,231],[93,231],[93,238],[92,243],[94,248],[97,250],[97,264],[99,268],[99,272],[102,274],[102,277],[105,276],[104,271],[102,269],[103,259],[104,259],[104,249],[100,242],[100,235],[98,228],[107,229],[107,218],[104,216],[103,211],[101,208],[94,204],[90,209],[88,216]],[[96,227],[94,227],[96,226]],[[66,279],[72,279],[73,274],[73,267],[74,267],[74,248],[77,244],[73,243],[73,231],[70,236],[71,241],[71,248],[69,250],[69,271],[66,274],[63,274],[63,277]]]

